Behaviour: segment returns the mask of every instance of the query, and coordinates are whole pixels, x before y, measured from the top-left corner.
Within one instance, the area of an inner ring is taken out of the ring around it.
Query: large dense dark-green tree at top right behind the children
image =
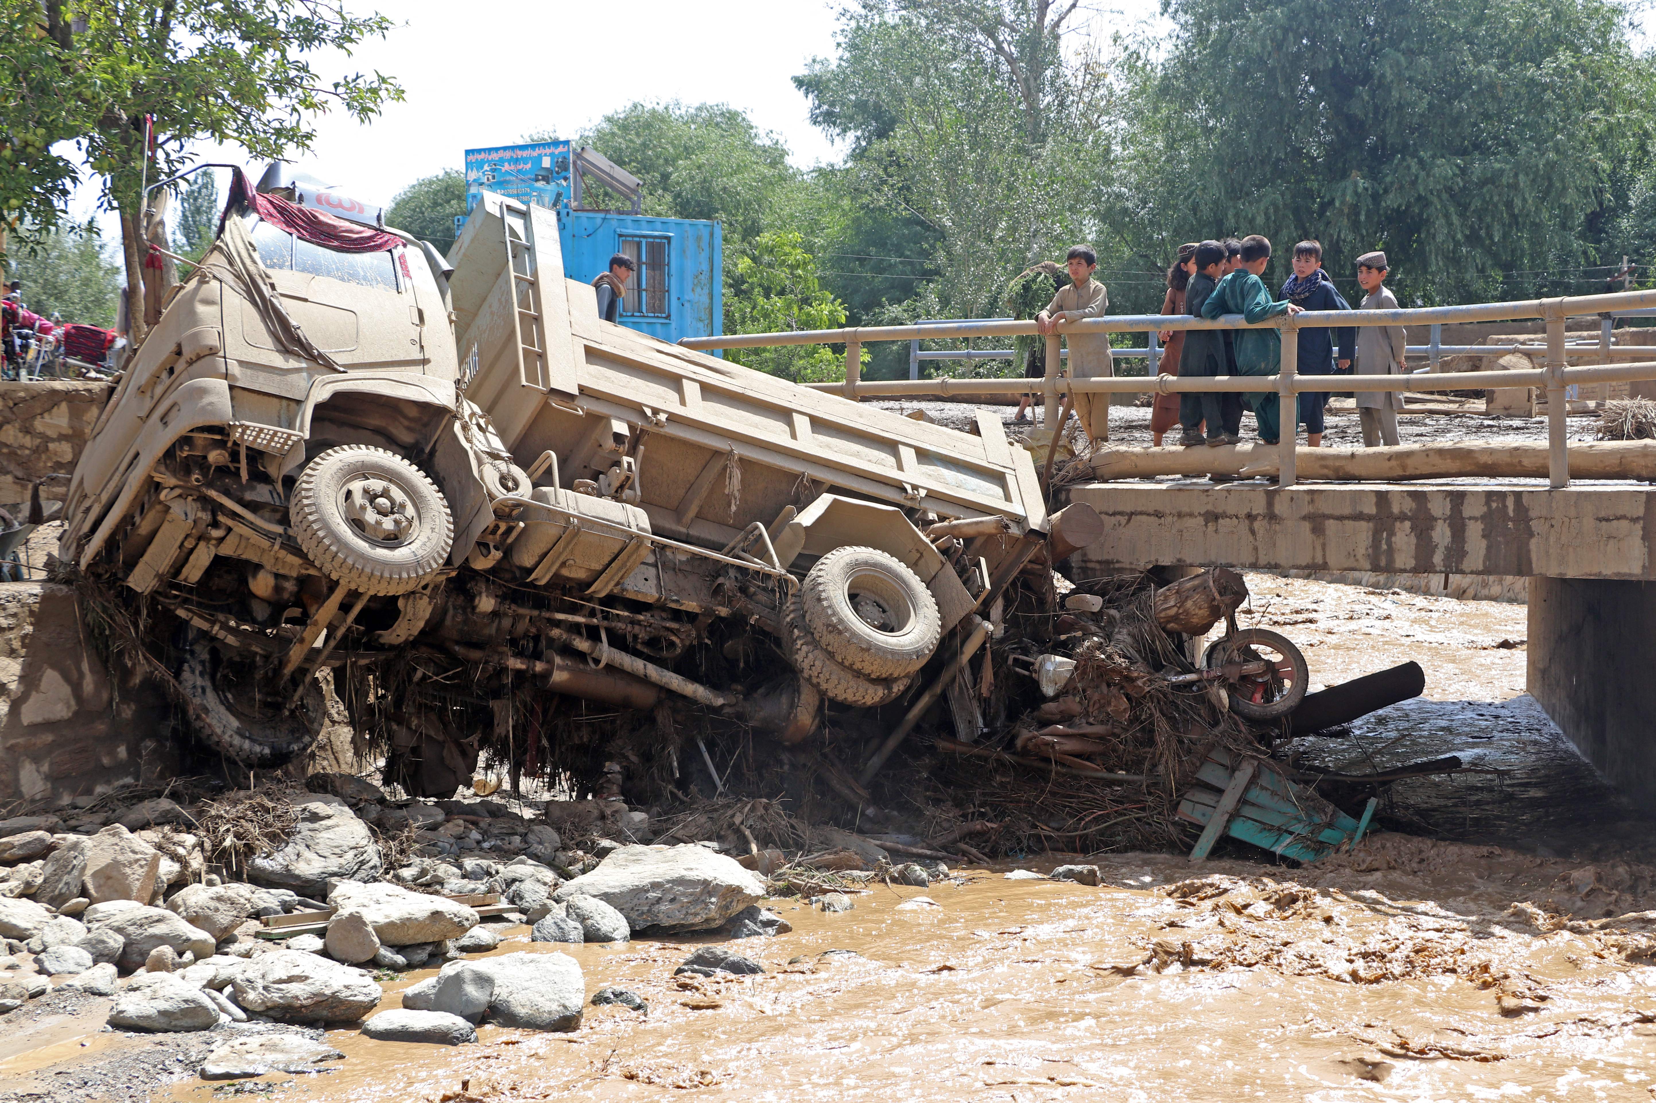
[[[1492,273],[1591,263],[1586,220],[1648,150],[1649,63],[1610,0],[1164,12],[1166,56],[1129,50],[1116,69],[1123,159],[1103,205],[1159,260],[1220,233],[1317,236],[1336,278],[1384,248],[1399,298],[1484,298]]]

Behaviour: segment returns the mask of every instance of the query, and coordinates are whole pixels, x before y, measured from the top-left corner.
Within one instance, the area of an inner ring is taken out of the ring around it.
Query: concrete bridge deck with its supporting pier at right
[[[1091,483],[1078,574],[1121,567],[1528,575],[1530,695],[1623,792],[1656,800],[1656,488],[1533,481],[1277,488]]]

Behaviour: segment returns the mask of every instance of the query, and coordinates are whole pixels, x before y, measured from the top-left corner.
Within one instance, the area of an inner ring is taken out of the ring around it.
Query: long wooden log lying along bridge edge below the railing
[[[1105,481],[1158,475],[1275,475],[1277,446],[1101,448],[1091,463],[1093,475]],[[1300,448],[1297,466],[1300,480],[1547,478],[1547,442]],[[1572,443],[1570,475],[1656,481],[1656,442]]]

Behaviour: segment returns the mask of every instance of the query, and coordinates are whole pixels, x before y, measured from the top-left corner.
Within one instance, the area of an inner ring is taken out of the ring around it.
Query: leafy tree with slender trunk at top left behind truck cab
[[[0,53],[18,48],[31,83],[25,96],[7,99],[0,129],[15,134],[50,114],[60,122],[45,126],[46,141],[78,141],[86,164],[103,174],[101,202],[121,218],[134,339],[144,332],[146,177],[174,175],[189,162],[185,147],[195,141],[237,144],[255,159],[291,155],[310,149],[311,116],[341,107],[366,121],[388,99],[402,98],[396,81],[381,73],[323,81],[311,68],[308,55],[348,53],[391,26],[383,15],[351,15],[339,0],[5,5],[7,13],[18,8],[28,15],[0,23],[7,35]],[[13,124],[13,112],[22,124]],[[156,147],[149,157],[146,117],[154,119]],[[45,165],[36,175],[51,180],[58,174],[61,185],[63,165],[46,164],[40,154],[31,157],[31,164]]]

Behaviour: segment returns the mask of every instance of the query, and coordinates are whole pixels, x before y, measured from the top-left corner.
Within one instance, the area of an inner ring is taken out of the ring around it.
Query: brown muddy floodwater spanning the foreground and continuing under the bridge
[[[628,987],[647,1014],[590,1007],[573,1034],[482,1027],[455,1048],[330,1030],[346,1060],[313,1077],[212,1085],[192,1075],[192,1040],[103,1032],[96,1007],[13,1015],[0,1098],[1656,1096],[1656,832],[1524,695],[1525,607],[1247,582],[1242,623],[1293,637],[1313,685],[1408,660],[1426,670],[1423,698],[1298,741],[1302,761],[1358,771],[1457,754],[1492,772],[1394,785],[1381,814],[1393,830],[1313,867],[1240,843],[1201,867],[1032,855],[927,888],[879,885],[841,914],[773,900],[793,929],[732,944],[765,966],[758,977],[672,976],[702,938],[507,941],[498,953],[570,953],[588,994]],[[1098,863],[1103,885],[1005,876],[1076,860]],[[383,1007],[427,976],[388,984]]]

